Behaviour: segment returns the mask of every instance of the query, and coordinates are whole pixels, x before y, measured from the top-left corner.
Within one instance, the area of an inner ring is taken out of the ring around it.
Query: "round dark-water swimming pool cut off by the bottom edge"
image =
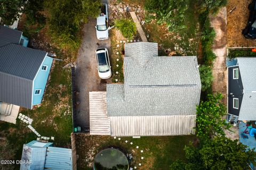
[[[128,170],[129,162],[122,151],[108,148],[100,151],[99,154],[96,155],[94,158],[93,169]]]

